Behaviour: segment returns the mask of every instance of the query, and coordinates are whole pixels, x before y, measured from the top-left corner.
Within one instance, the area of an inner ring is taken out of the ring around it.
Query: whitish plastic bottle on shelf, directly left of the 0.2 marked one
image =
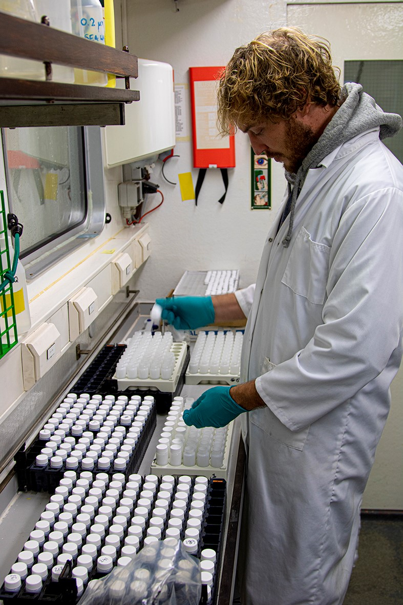
[[[35,0],[39,21],[43,16],[49,19],[50,27],[67,31],[71,34],[71,2],[70,0]],[[74,70],[66,65],[52,64],[52,80],[54,82],[74,82]]]

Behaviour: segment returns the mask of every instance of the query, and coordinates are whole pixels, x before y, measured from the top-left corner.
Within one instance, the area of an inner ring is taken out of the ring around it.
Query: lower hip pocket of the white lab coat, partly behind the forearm
[[[262,365],[262,374],[266,374],[266,372],[273,370],[275,367],[275,364],[265,357]],[[249,412],[249,415],[251,416],[252,424],[261,428],[272,439],[295,450],[302,451],[304,449],[310,425],[301,431],[290,431],[268,407],[253,410]]]

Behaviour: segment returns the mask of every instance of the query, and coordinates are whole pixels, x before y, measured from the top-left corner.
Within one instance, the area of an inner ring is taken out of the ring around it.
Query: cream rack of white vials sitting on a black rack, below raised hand
[[[188,345],[173,342],[171,332],[134,332],[116,365],[119,391],[131,387],[156,388],[174,393],[185,366]]]

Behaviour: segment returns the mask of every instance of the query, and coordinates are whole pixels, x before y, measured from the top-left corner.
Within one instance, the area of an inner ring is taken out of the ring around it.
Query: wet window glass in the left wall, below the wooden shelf
[[[85,221],[82,128],[5,128],[3,144],[10,209],[24,225],[24,258]]]

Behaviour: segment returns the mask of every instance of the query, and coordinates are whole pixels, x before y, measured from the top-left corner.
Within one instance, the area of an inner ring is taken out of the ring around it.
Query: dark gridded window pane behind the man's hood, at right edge
[[[344,82],[358,82],[382,110],[403,116],[403,60],[346,61]],[[403,132],[383,142],[403,163]]]

